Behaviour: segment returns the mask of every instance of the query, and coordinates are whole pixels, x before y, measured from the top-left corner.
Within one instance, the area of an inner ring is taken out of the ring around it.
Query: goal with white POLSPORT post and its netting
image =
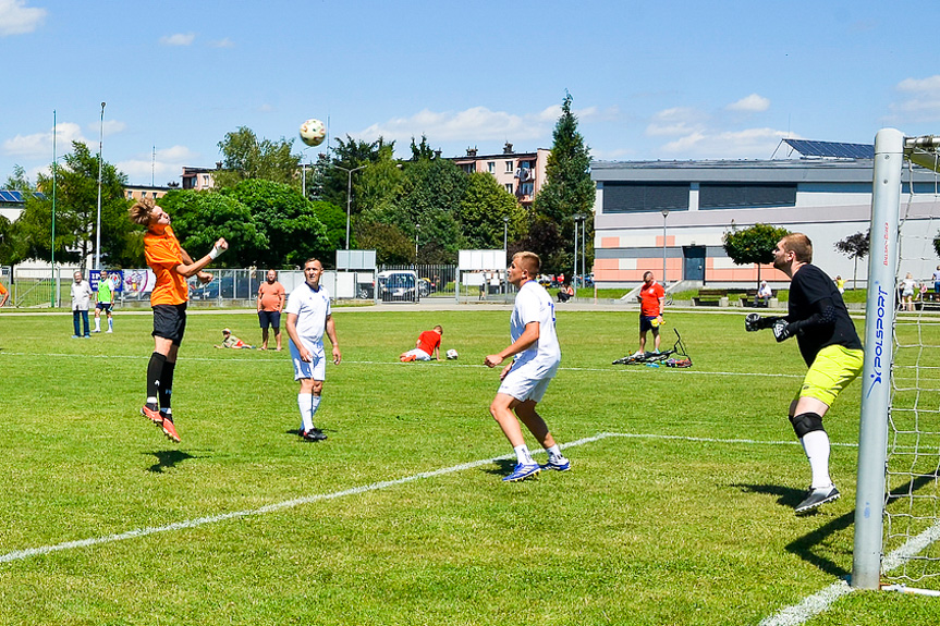
[[[852,570],[863,589],[940,590],[938,148],[892,128],[875,140]]]

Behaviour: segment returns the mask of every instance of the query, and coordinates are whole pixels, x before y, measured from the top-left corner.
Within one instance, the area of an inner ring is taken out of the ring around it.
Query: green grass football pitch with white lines
[[[509,484],[481,365],[509,315],[334,309],[317,444],[291,434],[286,349],[212,348],[223,327],[258,342],[252,314],[191,315],[181,444],[138,415],[148,314],[91,340],[70,316],[0,316],[0,623],[759,624],[847,576],[860,383],[826,420],[843,498],[796,517],[794,342],[672,314],[691,370],[611,366],[635,311],[561,310],[540,407],[573,469]],[[460,359],[399,364],[436,323]],[[938,622],[936,599],[855,592],[806,623]]]

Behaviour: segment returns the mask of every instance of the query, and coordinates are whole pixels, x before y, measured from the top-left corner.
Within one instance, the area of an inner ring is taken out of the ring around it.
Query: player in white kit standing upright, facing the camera
[[[340,365],[340,342],[337,326],[330,311],[330,294],[320,285],[323,265],[317,259],[304,263],[305,282],[291,292],[288,298],[288,336],[290,336],[291,360],[294,363],[294,380],[301,381],[297,407],[301,409],[301,428],[297,431],[306,441],[322,441],[327,438],[314,426],[314,415],[320,406],[320,394],[327,373],[323,352],[323,333],[333,345],[333,364]]]

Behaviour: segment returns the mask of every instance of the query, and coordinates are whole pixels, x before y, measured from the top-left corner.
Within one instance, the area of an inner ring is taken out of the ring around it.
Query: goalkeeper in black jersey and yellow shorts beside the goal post
[[[790,404],[790,422],[803,444],[813,481],[796,506],[805,513],[839,498],[829,477],[829,435],[822,416],[839,392],[862,372],[862,341],[842,295],[826,272],[813,263],[813,243],[802,233],[786,235],[773,249],[773,267],[790,277],[786,317],[750,314],[745,329],[772,329],[778,342],[796,337],[809,366],[799,393]]]

